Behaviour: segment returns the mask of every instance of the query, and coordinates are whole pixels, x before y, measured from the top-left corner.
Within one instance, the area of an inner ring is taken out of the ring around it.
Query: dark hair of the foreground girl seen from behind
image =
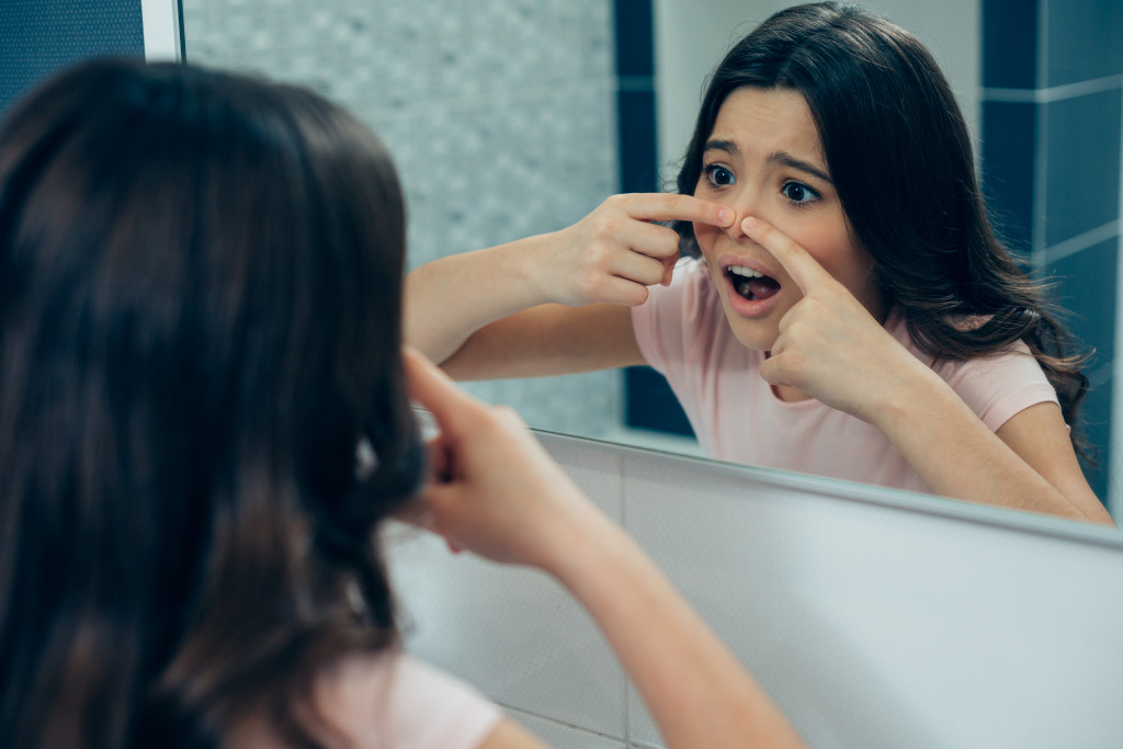
[[[319,669],[394,645],[403,210],[298,88],[110,60],[9,113],[0,746],[314,745]]]

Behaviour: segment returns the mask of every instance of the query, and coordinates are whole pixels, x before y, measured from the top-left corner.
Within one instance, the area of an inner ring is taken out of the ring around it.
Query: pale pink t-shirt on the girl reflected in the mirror
[[[784,468],[917,492],[928,485],[876,427],[815,400],[779,400],[760,376],[764,353],[733,336],[710,271],[684,258],[670,286],[652,286],[632,309],[643,358],[678,398],[706,454],[733,463]],[[1044,373],[1019,342],[1008,354],[935,362],[912,344],[891,314],[894,338],[951,385],[992,430],[1035,403],[1058,402]]]

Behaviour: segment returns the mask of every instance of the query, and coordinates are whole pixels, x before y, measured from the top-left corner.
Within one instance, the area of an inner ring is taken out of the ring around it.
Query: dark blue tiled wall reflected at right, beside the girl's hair
[[[984,0],[982,9],[985,188],[1005,235],[1058,283],[1068,323],[1096,351],[1084,430],[1101,465],[1088,477],[1117,511],[1123,485],[1112,410],[1123,373],[1115,351],[1123,3]]]

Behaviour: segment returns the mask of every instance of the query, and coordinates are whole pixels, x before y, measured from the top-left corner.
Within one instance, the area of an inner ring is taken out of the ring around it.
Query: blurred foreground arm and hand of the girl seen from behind
[[[667,746],[802,746],[732,654],[513,411],[471,399],[420,357],[407,365],[413,396],[440,428],[437,478],[420,497],[431,530],[558,579],[604,633]]]

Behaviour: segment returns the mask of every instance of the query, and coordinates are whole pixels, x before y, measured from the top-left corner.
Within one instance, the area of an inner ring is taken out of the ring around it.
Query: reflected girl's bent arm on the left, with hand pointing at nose
[[[457,378],[584,372],[642,363],[629,307],[669,283],[678,235],[732,212],[691,195],[614,195],[577,223],[450,255],[405,280],[405,340]]]

